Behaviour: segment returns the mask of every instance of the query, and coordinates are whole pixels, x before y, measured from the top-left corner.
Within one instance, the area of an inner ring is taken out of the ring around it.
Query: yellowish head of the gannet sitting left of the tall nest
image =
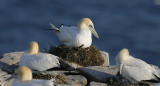
[[[38,51],[39,51],[38,43],[35,42],[35,41],[30,42],[29,49],[28,49],[28,54],[29,55],[37,54]]]

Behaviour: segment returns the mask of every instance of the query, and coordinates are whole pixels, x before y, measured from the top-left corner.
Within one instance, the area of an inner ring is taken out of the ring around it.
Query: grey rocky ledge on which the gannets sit
[[[18,68],[18,62],[23,52],[11,52],[2,55],[0,59],[0,86],[11,86],[13,79],[7,81]],[[149,84],[130,84],[119,76],[116,76],[116,66],[109,66],[109,55],[102,52],[104,64],[101,66],[78,67],[75,63],[60,60],[63,68],[51,69],[43,72],[33,72],[34,79],[56,78],[58,86],[150,86]],[[72,70],[68,69],[71,68]],[[124,81],[124,82],[122,82]]]

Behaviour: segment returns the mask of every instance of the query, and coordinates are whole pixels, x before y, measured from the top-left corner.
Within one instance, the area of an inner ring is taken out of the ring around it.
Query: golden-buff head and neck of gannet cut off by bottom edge
[[[15,71],[15,73],[18,74],[18,80],[19,81],[29,81],[32,80],[32,71],[26,67],[26,66],[22,66],[19,69],[17,69]]]

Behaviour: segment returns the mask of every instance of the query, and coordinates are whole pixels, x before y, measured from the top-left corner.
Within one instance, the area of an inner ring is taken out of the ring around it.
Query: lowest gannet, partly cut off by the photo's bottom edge
[[[53,86],[53,80],[32,79],[32,71],[26,67],[20,67],[9,79],[15,78],[12,86]]]

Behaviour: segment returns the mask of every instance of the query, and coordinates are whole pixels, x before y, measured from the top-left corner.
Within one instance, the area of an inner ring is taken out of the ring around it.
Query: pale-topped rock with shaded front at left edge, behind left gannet
[[[2,58],[0,59],[0,69],[7,73],[13,73],[18,67],[17,63],[22,54],[23,52],[11,52],[2,55]]]

